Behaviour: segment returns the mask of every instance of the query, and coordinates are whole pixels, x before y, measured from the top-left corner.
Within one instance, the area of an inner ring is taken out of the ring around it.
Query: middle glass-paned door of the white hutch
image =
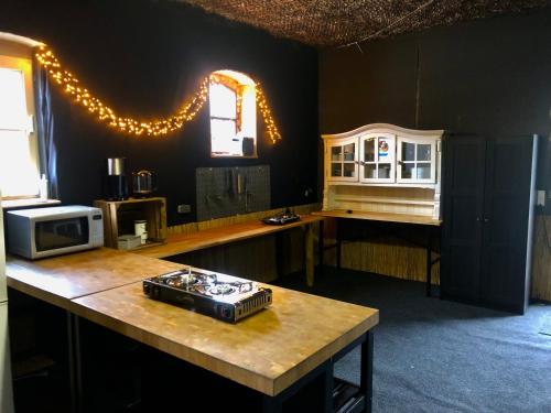
[[[366,134],[359,139],[360,181],[369,183],[395,182],[395,135]]]

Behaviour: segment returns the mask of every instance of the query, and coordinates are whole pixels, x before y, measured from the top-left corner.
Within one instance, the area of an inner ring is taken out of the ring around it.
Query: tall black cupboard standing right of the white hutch
[[[450,137],[444,156],[441,296],[523,313],[536,138]]]

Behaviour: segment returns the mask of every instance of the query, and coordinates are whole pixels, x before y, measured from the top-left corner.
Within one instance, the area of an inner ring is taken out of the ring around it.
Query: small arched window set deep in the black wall
[[[255,81],[239,72],[217,70],[208,86],[210,155],[257,157]]]

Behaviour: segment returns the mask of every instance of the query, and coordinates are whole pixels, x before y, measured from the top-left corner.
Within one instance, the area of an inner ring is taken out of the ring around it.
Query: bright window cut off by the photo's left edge
[[[4,198],[39,195],[33,133],[32,62],[0,55],[0,189]]]

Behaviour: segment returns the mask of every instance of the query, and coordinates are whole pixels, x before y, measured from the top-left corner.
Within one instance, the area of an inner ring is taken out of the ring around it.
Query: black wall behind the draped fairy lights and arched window
[[[54,96],[61,197],[100,198],[104,160],[127,156],[128,172],[159,174],[169,224],[195,220],[195,169],[269,164],[272,207],[317,199],[317,52],[300,43],[172,1],[2,0],[0,31],[51,45],[83,84],[121,115],[171,113],[210,72],[230,68],[259,80],[282,141],[268,142],[259,113],[258,160],[210,159],[208,107],[165,138],[129,138]],[[55,89],[55,88],[54,88]],[[305,196],[305,189],[314,194]],[[191,204],[193,213],[176,214]]]

